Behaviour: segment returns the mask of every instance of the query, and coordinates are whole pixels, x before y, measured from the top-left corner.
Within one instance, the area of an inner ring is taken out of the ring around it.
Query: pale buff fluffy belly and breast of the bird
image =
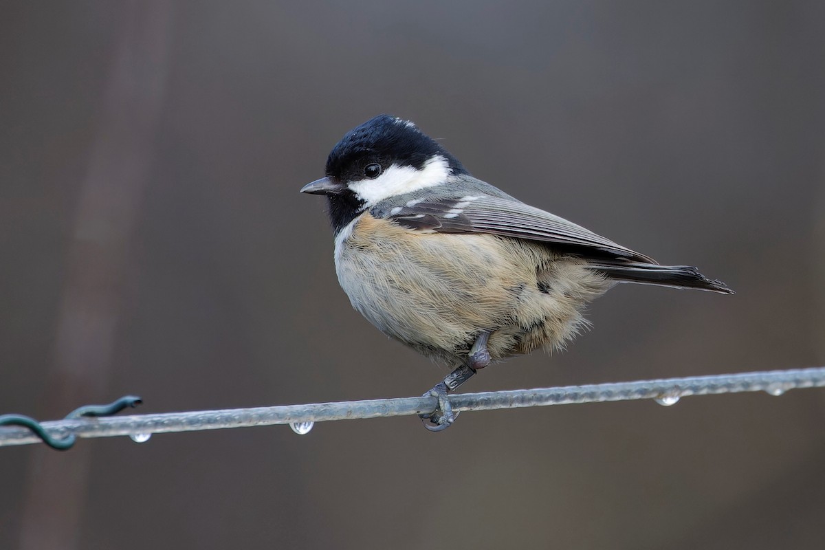
[[[385,334],[460,364],[491,331],[493,360],[560,346],[611,284],[533,242],[415,233],[370,214],[336,239],[336,270],[354,308]]]

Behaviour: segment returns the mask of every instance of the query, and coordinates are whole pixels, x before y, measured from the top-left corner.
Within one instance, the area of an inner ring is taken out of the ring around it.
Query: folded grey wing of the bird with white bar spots
[[[582,226],[537,209],[508,195],[482,192],[443,199],[411,199],[393,206],[379,205],[371,212],[403,227],[427,233],[492,233],[567,247],[582,256],[618,256],[646,264],[657,262],[622,247]]]

